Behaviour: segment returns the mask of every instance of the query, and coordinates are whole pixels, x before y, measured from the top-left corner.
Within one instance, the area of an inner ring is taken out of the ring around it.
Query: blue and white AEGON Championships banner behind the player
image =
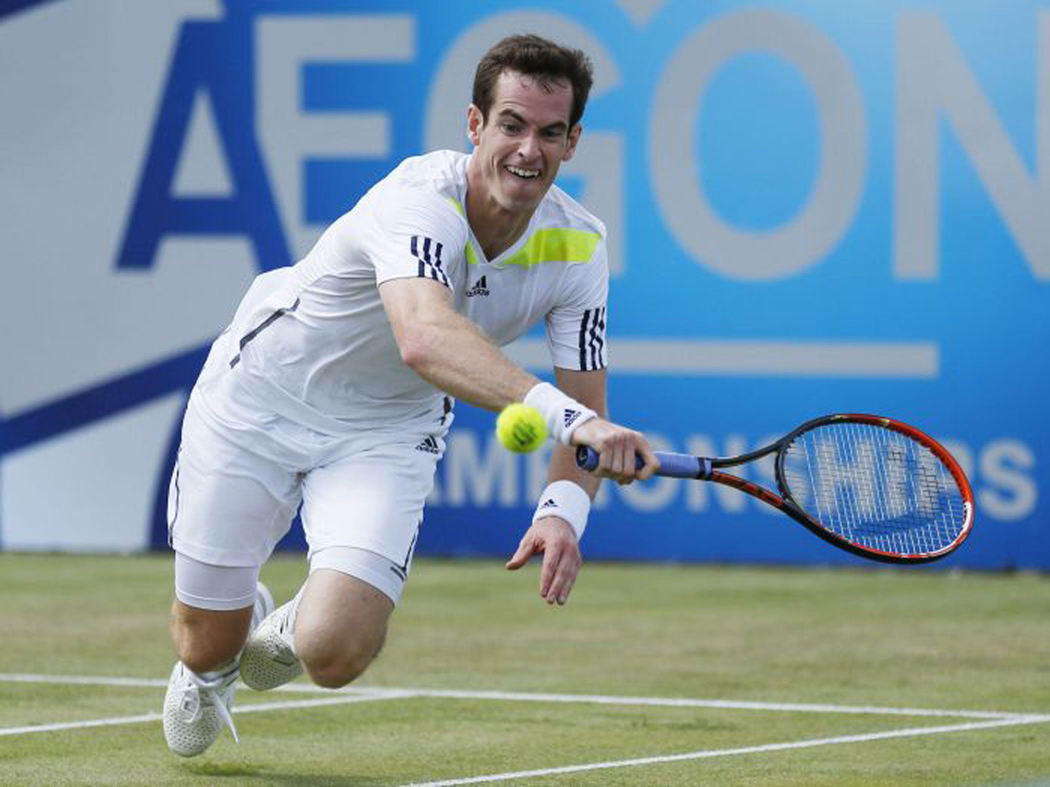
[[[915,423],[976,495],[943,565],[1050,569],[1050,6],[1027,0],[0,0],[0,549],[163,547],[188,389],[251,278],[402,157],[466,149],[474,65],[524,30],[596,66],[561,182],[610,229],[614,417],[707,454],[830,411]],[[546,369],[539,334],[510,353]],[[420,549],[508,553],[545,456],[458,412]],[[669,480],[605,488],[584,546],[855,560]]]

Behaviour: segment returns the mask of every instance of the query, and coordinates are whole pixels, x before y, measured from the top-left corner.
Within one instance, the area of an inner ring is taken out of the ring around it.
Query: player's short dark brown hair
[[[594,82],[594,68],[581,49],[569,49],[533,35],[508,36],[498,42],[485,52],[474,76],[474,105],[486,121],[492,106],[494,86],[504,71],[537,77],[542,85],[568,81],[572,87],[569,128],[583,118]]]

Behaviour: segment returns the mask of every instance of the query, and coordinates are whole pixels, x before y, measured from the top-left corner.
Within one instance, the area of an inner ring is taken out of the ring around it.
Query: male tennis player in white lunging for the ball
[[[236,737],[238,674],[271,688],[304,667],[338,687],[375,658],[454,398],[490,410],[524,401],[558,443],[506,563],[542,552],[548,603],[564,604],[575,581],[598,484],[570,446],[598,450],[601,476],[652,474],[646,440],[605,419],[605,228],[552,185],[590,85],[579,50],[534,36],[499,42],[475,79],[472,154],[404,161],[304,259],[256,278],[215,341],[171,483],[178,662],[164,731],[174,752],[201,753],[224,724]],[[539,320],[556,387],[498,349]],[[270,612],[259,568],[300,504],[310,575]]]

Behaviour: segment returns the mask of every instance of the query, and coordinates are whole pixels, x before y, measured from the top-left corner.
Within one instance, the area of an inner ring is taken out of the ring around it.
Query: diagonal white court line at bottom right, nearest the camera
[[[1050,721],[1050,716],[1018,716],[1010,719],[996,719],[966,724],[949,724],[941,727],[911,727],[908,729],[890,729],[885,732],[868,732],[863,735],[839,736],[837,738],[815,738],[808,741],[793,741],[791,743],[770,743],[762,746],[744,746],[735,749],[708,749],[690,751],[682,754],[664,754],[660,757],[642,757],[633,760],[616,760],[603,763],[586,763],[583,765],[567,765],[560,768],[541,768],[538,770],[516,770],[507,773],[490,773],[482,777],[465,777],[463,779],[445,779],[440,782],[413,782],[403,787],[458,787],[464,784],[484,784],[486,782],[509,782],[516,779],[531,779],[533,777],[560,775],[562,773],[582,773],[588,770],[609,770],[612,768],[629,768],[638,765],[660,765],[678,763],[689,760],[707,760],[716,757],[738,757],[740,754],[760,754],[768,751],[788,751],[790,749],[813,748],[815,746],[835,746],[847,743],[866,743],[868,741],[885,741],[892,738],[915,738],[918,736],[943,735],[946,732],[965,732],[974,729],[990,729],[992,727],[1008,727],[1020,724],[1042,724]]]

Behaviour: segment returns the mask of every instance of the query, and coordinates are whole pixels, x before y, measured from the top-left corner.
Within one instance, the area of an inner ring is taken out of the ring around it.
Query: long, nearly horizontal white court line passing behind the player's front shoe
[[[0,683],[51,683],[59,685],[99,685],[131,687],[167,687],[167,680],[149,678],[106,678],[81,675],[34,675],[25,673],[0,673]],[[606,695],[579,694],[534,694],[523,692],[469,692],[441,688],[383,688],[348,687],[333,692],[310,683],[290,683],[280,686],[280,692],[302,694],[324,694],[331,696],[353,695],[369,699],[399,699],[404,697],[430,697],[460,700],[498,700],[501,702],[565,702],[601,705],[646,705],[651,707],[706,707],[722,710],[761,710],[814,714],[863,714],[868,716],[921,716],[950,717],[956,719],[1018,719],[1030,714],[1001,710],[964,710],[950,708],[880,707],[875,705],[828,705],[790,702],[752,702],[739,700],[697,700],[674,697],[615,697]],[[267,707],[270,705],[265,705]]]

